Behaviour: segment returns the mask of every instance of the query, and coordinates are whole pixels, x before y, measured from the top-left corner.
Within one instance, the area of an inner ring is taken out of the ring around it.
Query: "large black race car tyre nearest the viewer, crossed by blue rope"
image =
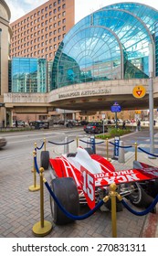
[[[71,177],[55,178],[51,181],[51,189],[58,198],[59,203],[71,214],[79,215],[79,193],[75,181]],[[63,211],[58,208],[53,197],[50,196],[50,208],[52,218],[58,225],[64,225],[73,222]]]

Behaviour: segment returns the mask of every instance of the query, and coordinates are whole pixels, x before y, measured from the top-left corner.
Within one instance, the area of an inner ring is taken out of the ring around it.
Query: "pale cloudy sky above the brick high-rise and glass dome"
[[[102,6],[114,3],[128,2],[125,0],[75,0],[75,21],[78,22],[84,16],[88,16],[93,11],[100,9]],[[26,13],[35,9],[37,6],[47,2],[47,0],[5,0],[11,10],[11,22],[17,18],[24,16]],[[151,5],[158,9],[157,0],[129,0],[129,2],[137,2],[145,5]]]

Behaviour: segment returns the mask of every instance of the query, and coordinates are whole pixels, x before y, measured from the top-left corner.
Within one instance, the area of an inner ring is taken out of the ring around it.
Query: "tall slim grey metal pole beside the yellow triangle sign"
[[[153,44],[149,44],[149,121],[150,121],[150,153],[154,154],[153,136]],[[153,156],[149,156],[153,158]]]

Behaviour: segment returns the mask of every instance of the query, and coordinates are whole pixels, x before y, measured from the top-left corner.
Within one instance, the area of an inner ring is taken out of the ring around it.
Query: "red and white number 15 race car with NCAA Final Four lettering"
[[[109,194],[111,183],[117,185],[117,192],[134,206],[148,208],[158,194],[158,168],[133,161],[133,168],[116,171],[111,162],[93,154],[90,148],[77,148],[77,152],[50,158],[48,151],[42,151],[40,165],[51,167],[51,189],[60,204],[71,214],[79,215],[79,205],[88,204],[92,209],[100,199]],[[111,210],[111,200],[104,204]],[[66,224],[69,219],[52,197],[50,208],[56,224]],[[117,201],[117,211],[122,210]]]

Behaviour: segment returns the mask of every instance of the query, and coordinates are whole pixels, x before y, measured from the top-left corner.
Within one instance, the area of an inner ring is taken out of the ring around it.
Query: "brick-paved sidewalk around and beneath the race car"
[[[158,134],[155,135],[158,138]],[[143,147],[149,143],[143,144]],[[40,146],[40,145],[38,145]],[[140,147],[142,145],[140,144]],[[76,142],[71,144],[71,150],[76,148]],[[47,145],[52,157],[63,151],[63,147]],[[105,145],[98,145],[97,153],[106,156]],[[73,152],[73,151],[72,151]],[[132,168],[134,152],[125,154],[125,163],[112,160],[116,170]],[[147,155],[139,152],[138,160],[144,163],[158,166],[158,160],[149,159]],[[5,168],[7,161],[7,169]],[[39,155],[37,155],[39,165]],[[28,187],[33,185],[32,152],[26,155],[25,159],[6,159],[1,161],[0,166],[0,237],[1,238],[33,238],[33,226],[40,220],[39,191],[30,192]],[[49,172],[45,171],[49,182]],[[39,177],[37,176],[37,184]],[[45,219],[52,221],[49,207],[49,195],[47,188],[44,188],[45,196]],[[80,208],[80,214],[89,209]],[[158,237],[158,208],[157,213],[149,213],[147,216],[134,216],[126,208],[117,213],[117,236],[119,238]],[[52,231],[47,235],[49,238],[111,238],[111,212],[98,210],[89,219],[77,220],[72,224],[56,226],[53,224]]]

